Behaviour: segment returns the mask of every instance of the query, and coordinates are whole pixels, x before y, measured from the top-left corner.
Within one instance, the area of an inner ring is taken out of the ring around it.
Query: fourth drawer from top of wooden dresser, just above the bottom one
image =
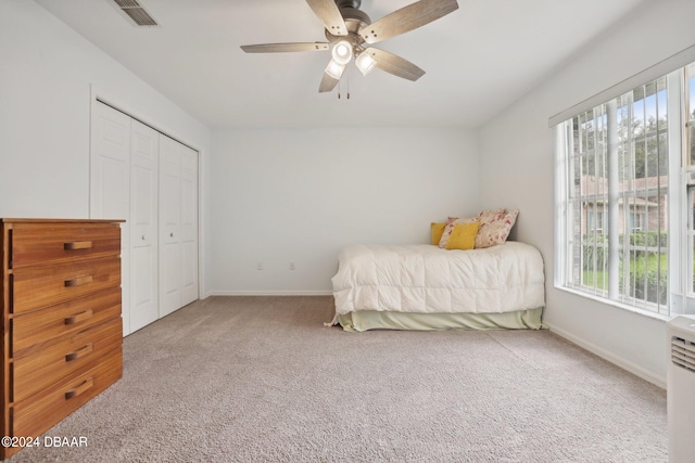
[[[22,401],[59,383],[123,343],[121,318],[88,329],[54,346],[14,361],[13,401]]]

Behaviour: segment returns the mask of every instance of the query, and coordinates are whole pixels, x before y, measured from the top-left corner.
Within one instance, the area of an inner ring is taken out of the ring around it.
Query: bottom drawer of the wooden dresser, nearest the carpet
[[[17,402],[12,413],[13,436],[39,436],[87,403],[122,376],[122,348],[102,357],[99,364],[61,381],[55,386]]]

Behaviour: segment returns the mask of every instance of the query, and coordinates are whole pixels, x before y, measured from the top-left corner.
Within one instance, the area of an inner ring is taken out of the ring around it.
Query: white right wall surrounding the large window
[[[660,385],[666,384],[667,368],[662,320],[553,285],[554,154],[548,117],[694,44],[694,17],[692,0],[645,2],[480,130],[482,205],[521,209],[517,237],[538,246],[545,259],[545,321]]]

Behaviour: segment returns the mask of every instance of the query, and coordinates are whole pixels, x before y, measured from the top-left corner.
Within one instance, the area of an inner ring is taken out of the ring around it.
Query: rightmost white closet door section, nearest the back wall
[[[160,317],[198,298],[198,153],[160,137]]]

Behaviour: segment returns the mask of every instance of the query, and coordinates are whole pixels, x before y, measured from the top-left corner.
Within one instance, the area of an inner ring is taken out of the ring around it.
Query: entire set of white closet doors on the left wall
[[[101,102],[90,215],[122,224],[123,333],[198,299],[198,152]]]

